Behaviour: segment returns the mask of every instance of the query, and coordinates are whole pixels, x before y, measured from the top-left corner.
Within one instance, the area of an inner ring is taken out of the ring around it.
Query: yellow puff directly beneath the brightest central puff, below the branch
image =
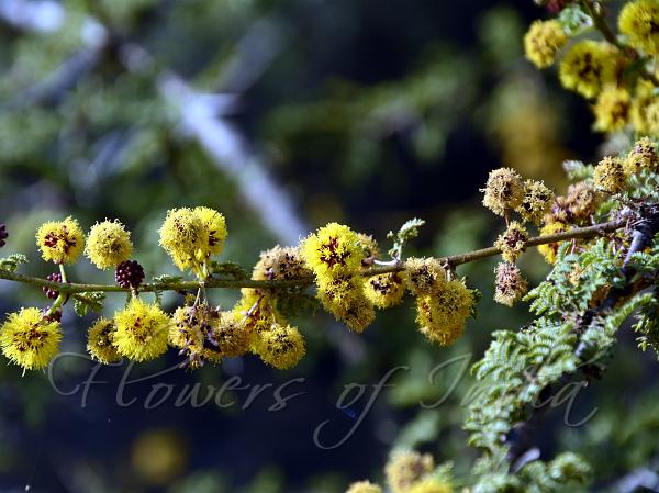
[[[319,282],[317,298],[336,320],[357,333],[364,332],[376,318],[373,303],[364,293],[360,276]]]

